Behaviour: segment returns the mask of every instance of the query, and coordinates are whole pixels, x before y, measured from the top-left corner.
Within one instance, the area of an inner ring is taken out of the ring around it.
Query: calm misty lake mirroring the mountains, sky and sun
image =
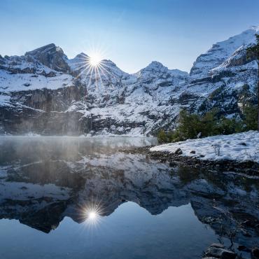
[[[230,236],[233,248],[257,243],[254,227],[239,230],[258,222],[257,179],[121,151],[151,144],[1,137],[0,258],[188,259]]]

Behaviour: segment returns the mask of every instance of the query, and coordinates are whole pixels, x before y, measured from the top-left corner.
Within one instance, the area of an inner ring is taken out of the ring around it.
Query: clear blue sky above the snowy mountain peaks
[[[1,55],[48,43],[69,58],[101,48],[133,73],[153,60],[189,71],[216,41],[259,25],[258,0],[0,0]]]

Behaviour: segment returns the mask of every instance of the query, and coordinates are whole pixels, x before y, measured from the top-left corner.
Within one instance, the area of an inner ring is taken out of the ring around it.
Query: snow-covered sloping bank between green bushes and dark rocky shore
[[[231,135],[218,135],[203,139],[188,139],[186,141],[155,146],[151,151],[174,153],[178,148],[183,156],[202,160],[236,160],[259,163],[259,132],[250,131]],[[190,153],[195,151],[195,154]]]

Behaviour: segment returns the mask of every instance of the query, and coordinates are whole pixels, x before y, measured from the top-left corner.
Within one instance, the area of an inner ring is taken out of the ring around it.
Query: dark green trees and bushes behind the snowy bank
[[[243,108],[241,118],[226,118],[218,115],[218,110],[214,109],[203,116],[190,114],[188,111],[181,111],[179,125],[172,132],[160,130],[158,141],[160,143],[184,141],[186,139],[196,139],[209,137],[218,134],[233,134],[257,130],[258,109],[256,106],[246,104]]]

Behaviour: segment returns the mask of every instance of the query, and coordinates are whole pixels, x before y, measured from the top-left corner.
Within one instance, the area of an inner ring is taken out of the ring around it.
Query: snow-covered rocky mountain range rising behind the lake
[[[258,31],[214,44],[190,74],[159,62],[134,74],[111,60],[92,69],[85,53],[68,59],[55,44],[0,56],[0,133],[153,134],[174,127],[181,109],[232,116],[256,102],[258,64],[246,48]]]

